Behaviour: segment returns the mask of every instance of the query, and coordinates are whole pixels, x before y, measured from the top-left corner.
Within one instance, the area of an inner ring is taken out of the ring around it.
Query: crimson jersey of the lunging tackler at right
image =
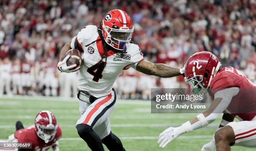
[[[225,111],[240,120],[252,120],[256,116],[256,85],[244,77],[241,71],[224,67],[212,78],[211,96],[230,87],[238,87],[239,92],[232,98]]]

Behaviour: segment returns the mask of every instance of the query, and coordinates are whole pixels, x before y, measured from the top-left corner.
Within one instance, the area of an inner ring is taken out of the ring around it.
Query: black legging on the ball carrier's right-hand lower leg
[[[125,151],[121,140],[112,132],[110,132],[110,134],[103,138],[101,141],[110,151]]]

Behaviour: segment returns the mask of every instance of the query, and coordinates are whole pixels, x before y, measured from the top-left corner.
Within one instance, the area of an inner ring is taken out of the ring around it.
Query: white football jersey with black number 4
[[[127,53],[108,51],[107,64],[104,67],[100,64],[101,55],[104,54],[102,41],[86,47],[99,38],[97,26],[88,25],[82,28],[71,42],[72,49],[75,48],[74,42],[77,41],[84,51],[83,64],[79,69],[78,88],[95,97],[108,95],[118,75],[129,67],[136,68],[136,64],[143,60],[138,45],[128,44]],[[103,61],[105,62],[105,58]]]

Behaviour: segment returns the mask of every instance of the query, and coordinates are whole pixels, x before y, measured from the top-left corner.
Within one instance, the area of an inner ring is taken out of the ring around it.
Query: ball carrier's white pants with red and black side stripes
[[[82,115],[77,120],[77,125],[84,123],[92,126],[93,130],[101,139],[110,134],[109,116],[116,106],[116,92],[111,90],[110,94],[100,97],[93,103],[87,103],[79,100],[79,112]]]

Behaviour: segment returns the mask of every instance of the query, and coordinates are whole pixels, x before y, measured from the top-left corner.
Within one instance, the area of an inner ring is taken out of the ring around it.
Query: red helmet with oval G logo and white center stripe
[[[102,34],[108,45],[125,52],[133,34],[131,17],[123,10],[110,10],[102,20]]]

